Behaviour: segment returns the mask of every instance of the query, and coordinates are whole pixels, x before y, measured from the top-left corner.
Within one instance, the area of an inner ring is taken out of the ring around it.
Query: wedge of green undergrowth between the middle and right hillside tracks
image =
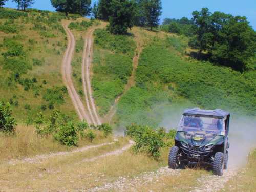
[[[99,114],[102,116],[108,113],[115,98],[124,91],[124,86],[132,74],[132,57],[136,46],[131,37],[112,35],[103,29],[97,29],[94,35],[96,49],[92,87]]]

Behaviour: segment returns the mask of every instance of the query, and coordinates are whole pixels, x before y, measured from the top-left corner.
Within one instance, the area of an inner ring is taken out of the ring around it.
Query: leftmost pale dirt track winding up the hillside
[[[72,70],[71,70],[71,61],[74,54],[75,49],[75,38],[70,29],[68,28],[68,24],[63,24],[63,28],[65,29],[68,37],[68,47],[65,52],[65,56],[63,57],[62,61],[62,78],[63,82],[65,83],[69,95],[71,97],[71,100],[73,102],[73,105],[77,111],[77,114],[79,115],[80,120],[85,119],[88,123],[92,123],[90,118],[88,117],[86,110],[84,109],[84,106],[80,100],[79,95],[77,94],[74,83],[72,81]]]

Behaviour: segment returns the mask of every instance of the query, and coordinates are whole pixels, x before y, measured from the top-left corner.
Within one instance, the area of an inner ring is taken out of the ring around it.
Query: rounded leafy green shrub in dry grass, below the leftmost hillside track
[[[60,125],[59,131],[54,134],[54,138],[67,146],[76,146],[78,142],[76,128],[71,121]]]

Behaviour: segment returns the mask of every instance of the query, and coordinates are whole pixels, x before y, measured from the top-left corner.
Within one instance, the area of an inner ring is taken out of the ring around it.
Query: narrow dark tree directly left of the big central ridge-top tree
[[[99,0],[98,2],[98,18],[101,20],[109,20],[111,15],[112,0]]]

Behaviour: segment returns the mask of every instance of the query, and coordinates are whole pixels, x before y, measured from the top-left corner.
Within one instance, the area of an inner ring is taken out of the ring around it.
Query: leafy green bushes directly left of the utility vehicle
[[[159,159],[162,147],[173,146],[176,130],[166,133],[164,128],[153,129],[150,126],[132,124],[126,127],[125,133],[136,142],[133,147],[135,153],[145,152],[155,159]]]

